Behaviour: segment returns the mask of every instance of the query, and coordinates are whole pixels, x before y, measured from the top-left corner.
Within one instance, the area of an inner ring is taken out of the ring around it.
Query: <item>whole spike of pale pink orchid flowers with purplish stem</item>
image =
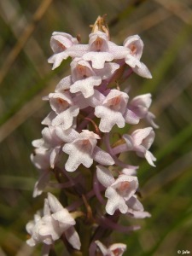
[[[79,38],[65,32],[54,32],[50,46],[54,52],[49,58],[53,69],[71,57],[71,74],[44,97],[51,111],[42,121],[46,125],[42,138],[32,142],[31,159],[40,172],[33,196],[55,187],[66,195],[67,203],[62,207],[49,193],[43,214],[38,212],[34,221],[26,225],[31,235],[27,243],[34,246],[43,242],[49,252],[50,246],[61,239],[67,247],[81,250],[84,239],[80,242],[74,230],[75,216],[81,217],[80,227],[91,227],[87,238],[90,255],[122,255],[124,244],[107,248],[99,240],[107,241],[108,229],[137,230],[137,226],[123,227],[117,223],[121,213],[127,218],[150,217],[137,198],[138,166],[119,160],[119,154],[132,151],[154,166],[155,157],[149,148],[157,125],[154,114],[148,110],[151,95],[130,99],[119,89],[119,83],[131,73],[151,79],[148,67],[140,61],[143,41],[134,35],[126,38],[123,46],[114,44],[104,19],[98,17],[89,44],[80,44]],[[148,122],[147,128],[139,125],[131,134],[125,133],[111,143],[114,131],[126,131],[131,125],[140,124],[141,119]],[[53,183],[53,175],[58,183]]]

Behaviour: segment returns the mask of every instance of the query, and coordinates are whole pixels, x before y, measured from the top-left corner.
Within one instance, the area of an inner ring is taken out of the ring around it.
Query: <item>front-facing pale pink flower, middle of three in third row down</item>
[[[101,118],[99,129],[102,132],[109,132],[113,125],[119,128],[125,126],[124,113],[129,96],[119,90],[110,90],[108,96],[103,100],[102,105],[96,106],[96,117]]]

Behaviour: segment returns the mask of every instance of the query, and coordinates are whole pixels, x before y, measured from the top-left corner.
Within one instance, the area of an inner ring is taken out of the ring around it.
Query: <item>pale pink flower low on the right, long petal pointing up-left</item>
[[[111,172],[103,166],[96,166],[96,176],[102,185],[107,188],[105,196],[108,198],[106,212],[113,215],[119,209],[120,212],[126,213],[128,201],[135,194],[138,188],[137,177],[121,174],[115,180]]]

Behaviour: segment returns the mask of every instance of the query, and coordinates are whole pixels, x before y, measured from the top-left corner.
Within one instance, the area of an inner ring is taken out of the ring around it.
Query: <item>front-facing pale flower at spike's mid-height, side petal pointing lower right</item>
[[[80,164],[89,168],[93,160],[102,165],[113,165],[110,154],[96,146],[96,140],[100,137],[93,131],[83,130],[73,143],[66,143],[63,151],[69,154],[65,168],[67,172],[74,172]]]

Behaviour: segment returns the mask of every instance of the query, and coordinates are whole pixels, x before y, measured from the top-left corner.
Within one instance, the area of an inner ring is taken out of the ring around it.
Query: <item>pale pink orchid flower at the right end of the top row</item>
[[[146,79],[151,79],[151,73],[148,70],[148,67],[140,61],[143,54],[143,41],[138,35],[131,36],[125,39],[124,46],[130,51],[125,56],[125,62],[132,70],[138,75]]]

